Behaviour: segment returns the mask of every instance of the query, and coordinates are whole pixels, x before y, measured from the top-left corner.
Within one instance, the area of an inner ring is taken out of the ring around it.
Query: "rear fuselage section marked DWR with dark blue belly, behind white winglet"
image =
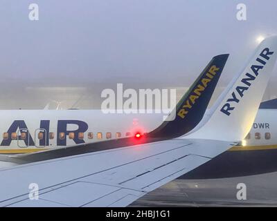
[[[277,171],[277,99],[260,104],[251,131],[236,146],[179,179],[216,179]]]

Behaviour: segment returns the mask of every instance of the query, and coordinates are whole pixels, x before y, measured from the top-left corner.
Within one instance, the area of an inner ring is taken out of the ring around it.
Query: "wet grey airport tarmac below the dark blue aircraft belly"
[[[238,200],[239,183],[247,200]],[[277,172],[213,180],[174,180],[130,206],[277,206]]]

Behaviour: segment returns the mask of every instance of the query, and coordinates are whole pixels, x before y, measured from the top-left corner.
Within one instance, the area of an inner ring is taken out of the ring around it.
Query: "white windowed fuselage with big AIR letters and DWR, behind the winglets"
[[[277,144],[275,109],[260,109],[242,144]],[[100,110],[0,111],[0,153],[29,153],[148,133],[163,121],[161,113],[105,114]]]

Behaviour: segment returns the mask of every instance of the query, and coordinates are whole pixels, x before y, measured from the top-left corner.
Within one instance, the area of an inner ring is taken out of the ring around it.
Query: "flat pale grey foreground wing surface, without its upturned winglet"
[[[231,146],[173,139],[14,166],[0,171],[0,206],[127,206]]]

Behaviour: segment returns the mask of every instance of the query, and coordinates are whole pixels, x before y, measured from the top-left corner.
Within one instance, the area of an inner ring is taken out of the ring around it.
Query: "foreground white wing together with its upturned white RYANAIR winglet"
[[[17,166],[0,170],[0,206],[127,206],[212,160],[249,133],[276,62],[276,51],[277,37],[262,41],[209,114],[194,128],[181,128],[185,134],[177,133],[179,137],[172,134],[162,139],[154,133],[145,137],[147,142],[136,145],[132,138],[120,138],[1,156]],[[190,90],[188,98],[193,93]],[[205,97],[202,101],[206,105],[193,104],[197,106],[193,115],[204,115],[209,100]],[[195,122],[192,117],[184,119]],[[177,117],[177,125],[184,119]],[[39,186],[37,200],[29,198],[28,186],[33,183]]]

